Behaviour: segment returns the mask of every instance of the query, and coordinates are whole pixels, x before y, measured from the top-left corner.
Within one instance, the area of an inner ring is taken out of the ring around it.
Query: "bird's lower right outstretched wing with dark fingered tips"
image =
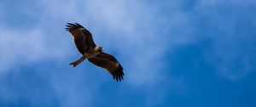
[[[113,79],[121,82],[124,76],[123,67],[119,64],[113,55],[108,53],[100,53],[93,58],[88,59],[90,63],[102,67],[110,72]]]

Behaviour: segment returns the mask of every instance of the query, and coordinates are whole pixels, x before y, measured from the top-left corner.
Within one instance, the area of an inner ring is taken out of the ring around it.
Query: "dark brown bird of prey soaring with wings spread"
[[[92,39],[90,31],[78,23],[67,23],[66,30],[69,31],[74,39],[75,45],[83,56],[71,63],[75,67],[79,65],[84,59],[88,59],[90,63],[102,67],[113,76],[117,82],[121,82],[124,76],[123,67],[113,55],[104,53],[102,47],[96,46]]]

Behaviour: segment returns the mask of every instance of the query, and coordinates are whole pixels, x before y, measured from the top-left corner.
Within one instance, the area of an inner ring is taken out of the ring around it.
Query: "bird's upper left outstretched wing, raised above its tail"
[[[78,23],[67,23],[66,26],[66,30],[72,34],[80,53],[84,54],[90,48],[96,47],[90,31],[86,30],[84,26],[79,25]]]

